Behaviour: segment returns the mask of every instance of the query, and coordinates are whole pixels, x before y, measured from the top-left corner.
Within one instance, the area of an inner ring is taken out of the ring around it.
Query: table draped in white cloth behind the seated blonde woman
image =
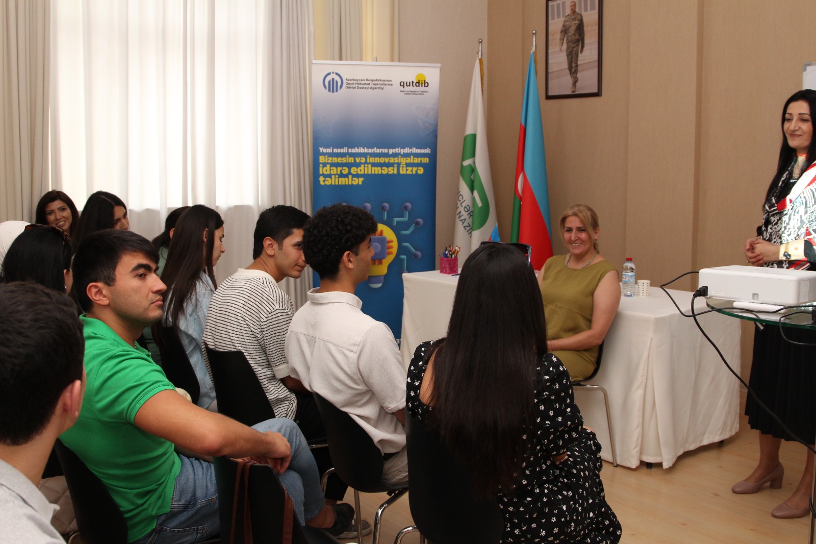
[[[438,271],[403,274],[401,354],[410,362],[416,346],[444,337],[458,276]],[[691,293],[670,290],[688,314]],[[707,310],[703,299],[697,311]],[[721,314],[698,318],[732,367],[739,368],[739,320]],[[737,379],[725,368],[694,321],[677,312],[659,288],[649,297],[623,297],[604,342],[601,370],[591,383],[609,394],[618,463],[672,466],[682,453],[726,439],[738,429]],[[575,391],[584,423],[612,460],[603,395]]]

